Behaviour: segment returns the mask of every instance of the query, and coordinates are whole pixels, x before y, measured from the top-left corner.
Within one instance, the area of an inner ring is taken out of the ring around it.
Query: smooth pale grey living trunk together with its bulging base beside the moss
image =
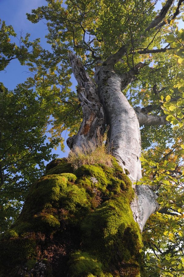
[[[128,76],[127,76],[128,78]],[[141,138],[137,115],[122,93],[129,81],[111,68],[101,66],[96,71],[95,81],[109,124],[109,146],[121,167],[128,173],[132,183],[140,180]],[[158,208],[156,195],[148,187],[133,185],[136,196],[131,203],[135,221],[141,231],[150,215]]]

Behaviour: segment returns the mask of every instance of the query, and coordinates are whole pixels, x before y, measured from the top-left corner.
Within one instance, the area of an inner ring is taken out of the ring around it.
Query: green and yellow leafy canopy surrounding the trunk
[[[47,21],[52,51],[42,49],[39,40],[30,42],[29,35],[17,46],[11,43],[13,27],[2,22],[0,29],[1,70],[17,58],[31,72],[14,91],[0,87],[1,231],[19,213],[30,182],[43,174],[43,160],[53,158],[52,147],[60,142],[63,149],[62,131],[73,136],[79,130],[82,109],[77,91],[71,90],[68,53],[75,53],[91,78],[104,60],[119,55],[114,71],[136,75],[122,91],[130,105],[138,114],[168,121],[141,126],[143,178],[138,184],[150,185],[160,204],[143,231],[147,270],[150,276],[182,276],[184,29],[177,25],[183,1],[163,1],[158,11],[157,1],[150,0],[46,2],[27,17],[33,23]],[[49,123],[50,144],[44,144]]]

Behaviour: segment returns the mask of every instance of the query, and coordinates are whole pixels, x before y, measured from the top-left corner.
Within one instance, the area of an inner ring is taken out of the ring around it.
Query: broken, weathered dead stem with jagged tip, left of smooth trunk
[[[75,79],[79,84],[77,92],[83,112],[83,120],[77,135],[67,139],[67,145],[71,149],[76,146],[88,146],[89,141],[95,142],[98,130],[100,134],[105,131],[105,118],[98,90],[93,80],[73,53],[69,53],[68,57]]]

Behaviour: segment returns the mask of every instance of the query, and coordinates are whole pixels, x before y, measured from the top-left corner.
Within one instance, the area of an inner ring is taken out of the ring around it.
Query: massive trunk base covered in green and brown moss
[[[132,184],[113,168],[52,161],[0,237],[0,276],[145,276]]]

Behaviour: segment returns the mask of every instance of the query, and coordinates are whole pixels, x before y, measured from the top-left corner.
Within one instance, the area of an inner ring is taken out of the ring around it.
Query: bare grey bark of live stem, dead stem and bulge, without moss
[[[139,68],[144,64],[139,63],[134,69],[123,75],[117,75],[113,66],[121,57],[124,49],[112,55],[97,68],[92,79],[87,75],[81,62],[74,54],[70,53],[74,76],[79,84],[79,99],[82,105],[83,121],[76,136],[67,140],[70,148],[81,147],[91,140],[95,142],[97,129],[101,133],[105,131],[105,122],[109,125],[108,138],[112,155],[117,158],[123,169],[129,171],[129,177],[134,181],[139,180],[141,175],[141,138],[139,121],[136,112],[128,103],[122,90],[132,82]],[[91,114],[93,115],[90,119]],[[88,124],[90,119],[90,124]],[[84,126],[89,125],[84,133]],[[99,125],[98,125],[99,124]],[[139,224],[141,231],[151,213],[158,208],[156,195],[147,186],[135,186],[133,188],[136,197],[131,204],[135,221]]]

